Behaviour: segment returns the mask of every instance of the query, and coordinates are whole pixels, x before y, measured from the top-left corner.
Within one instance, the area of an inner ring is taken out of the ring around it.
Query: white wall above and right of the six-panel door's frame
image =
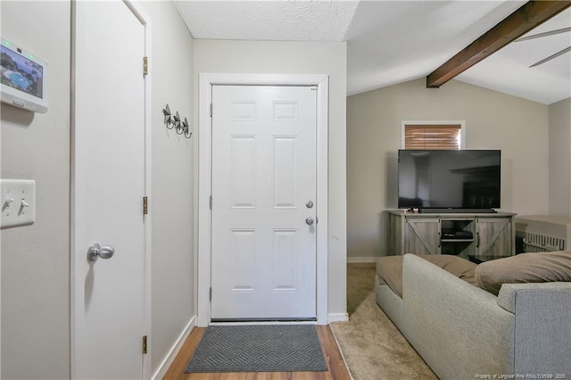
[[[194,40],[194,78],[201,72],[329,75],[330,315],[346,310],[346,56],[345,43]],[[197,83],[194,89],[197,96]]]

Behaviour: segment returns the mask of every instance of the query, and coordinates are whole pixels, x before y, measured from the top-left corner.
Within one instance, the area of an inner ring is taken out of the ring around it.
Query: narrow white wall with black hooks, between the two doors
[[[153,23],[152,373],[194,316],[193,141],[167,129],[170,106],[193,120],[193,37],[170,2],[144,2]]]

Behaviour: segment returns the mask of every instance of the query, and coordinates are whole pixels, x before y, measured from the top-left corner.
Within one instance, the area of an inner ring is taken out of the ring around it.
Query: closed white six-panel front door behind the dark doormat
[[[316,318],[315,87],[212,87],[211,319]]]

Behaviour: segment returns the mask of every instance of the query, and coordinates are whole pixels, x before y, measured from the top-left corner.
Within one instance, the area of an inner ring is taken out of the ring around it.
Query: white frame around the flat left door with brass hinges
[[[153,36],[153,30],[151,27],[151,17],[145,12],[143,7],[137,2],[137,0],[122,0],[125,5],[135,14],[137,19],[141,24],[145,25],[145,56],[151,57],[151,40]],[[77,20],[75,20],[75,2],[71,2],[71,102],[72,108],[70,112],[71,118],[71,153],[70,153],[70,378],[76,378],[76,290],[78,281],[82,281],[81,278],[77,278],[75,275],[75,154],[77,146],[75,145],[75,109],[73,104],[75,104],[75,99],[73,94],[75,94],[75,44],[76,44],[76,34],[75,25]],[[151,189],[151,146],[152,146],[152,133],[151,133],[151,60],[148,62],[148,72],[149,74],[145,77],[145,194],[149,198],[149,206],[152,202]],[[142,64],[142,62],[141,62]],[[149,207],[150,208],[150,207]],[[143,334],[149,336],[149,342],[147,343],[147,354],[143,355],[143,378],[151,378],[151,355],[152,355],[152,344],[151,344],[151,268],[153,261],[151,260],[151,213],[145,215],[145,281],[144,281],[144,305],[143,305]],[[87,247],[86,247],[87,249]],[[87,255],[87,251],[86,251]],[[96,359],[96,354],[94,359]]]

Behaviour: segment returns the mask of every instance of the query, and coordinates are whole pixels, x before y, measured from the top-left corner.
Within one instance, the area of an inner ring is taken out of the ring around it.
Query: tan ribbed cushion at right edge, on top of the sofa
[[[477,285],[498,295],[502,284],[571,282],[571,252],[520,253],[476,267]]]

